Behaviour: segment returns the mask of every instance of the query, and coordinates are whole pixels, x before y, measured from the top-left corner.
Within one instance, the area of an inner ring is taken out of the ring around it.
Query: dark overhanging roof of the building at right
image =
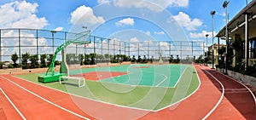
[[[250,30],[253,30],[256,28],[256,0],[253,0],[251,3],[247,4],[247,6],[244,9],[241,9],[241,11],[236,14],[236,16],[230,20],[228,23],[228,29],[231,35],[234,34],[241,34],[241,37],[244,37],[244,24],[245,24],[245,15],[248,14],[248,21],[249,21],[249,39],[256,37],[256,33]],[[225,36],[225,26],[220,31],[218,31],[218,34],[216,37],[224,37]]]

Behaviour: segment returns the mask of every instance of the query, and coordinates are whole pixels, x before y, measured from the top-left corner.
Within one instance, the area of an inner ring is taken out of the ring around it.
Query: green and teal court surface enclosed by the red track
[[[183,100],[200,86],[199,78],[191,65],[125,65],[84,68],[70,71],[71,75],[91,71],[125,71],[127,74],[108,77],[98,81],[86,80],[86,86],[77,83],[38,83],[38,74],[16,75],[49,88],[77,94],[90,100],[97,100],[134,109],[159,111]]]

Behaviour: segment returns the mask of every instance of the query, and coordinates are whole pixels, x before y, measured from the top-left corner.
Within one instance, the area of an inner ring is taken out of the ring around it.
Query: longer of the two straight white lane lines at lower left
[[[48,102],[49,104],[51,104],[51,105],[53,105],[53,106],[59,107],[61,110],[67,111],[67,112],[69,112],[69,113],[71,113],[71,114],[73,114],[73,115],[75,115],[75,116],[77,116],[77,117],[81,117],[81,118],[83,118],[83,119],[90,120],[90,118],[81,116],[81,115],[79,115],[79,114],[76,113],[76,112],[67,110],[66,108],[64,108],[64,107],[62,107],[62,106],[58,106],[58,105],[56,105],[55,103],[53,103],[53,102],[51,102],[51,101],[49,101],[49,100],[44,99],[42,96],[40,96],[40,95],[38,95],[38,94],[35,94],[35,93],[33,93],[32,91],[30,91],[30,90],[28,90],[28,89],[25,89],[24,87],[20,86],[18,83],[15,83],[15,82],[9,80],[9,78],[6,78],[6,77],[3,77],[3,78],[6,79],[6,80],[8,80],[10,83],[13,83],[13,84],[15,84],[16,86],[20,87],[20,89],[24,89],[26,92],[37,96],[39,99],[44,100],[44,101]]]

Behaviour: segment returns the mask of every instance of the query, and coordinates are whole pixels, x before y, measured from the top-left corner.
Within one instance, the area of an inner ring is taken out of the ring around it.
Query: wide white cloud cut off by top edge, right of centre
[[[116,6],[126,8],[147,8],[155,12],[160,12],[168,7],[187,7],[189,0],[114,0]]]

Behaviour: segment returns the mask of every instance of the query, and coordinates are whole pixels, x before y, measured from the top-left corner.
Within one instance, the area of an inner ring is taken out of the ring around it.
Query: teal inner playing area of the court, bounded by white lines
[[[113,67],[110,69],[110,71],[115,71],[115,69],[124,70],[128,71],[128,74],[103,79],[100,80],[100,82],[151,87],[175,87],[177,81],[188,65],[130,65],[119,67],[121,69],[118,67]]]

